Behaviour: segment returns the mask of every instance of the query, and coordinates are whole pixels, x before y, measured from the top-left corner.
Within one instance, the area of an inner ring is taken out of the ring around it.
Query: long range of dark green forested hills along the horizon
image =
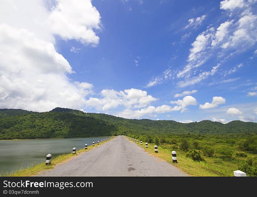
[[[0,139],[88,137],[116,134],[222,134],[257,133],[257,123],[235,120],[227,124],[203,120],[180,123],[173,120],[125,119],[107,114],[55,108],[38,113],[0,109]]]

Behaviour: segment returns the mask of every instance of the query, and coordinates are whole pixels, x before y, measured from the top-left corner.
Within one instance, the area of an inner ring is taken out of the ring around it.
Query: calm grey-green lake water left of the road
[[[108,137],[0,140],[0,174],[46,162],[47,154],[55,158],[63,153],[71,153],[73,147],[79,150],[85,144],[89,146],[93,141],[97,144],[98,140],[101,143],[102,139]]]

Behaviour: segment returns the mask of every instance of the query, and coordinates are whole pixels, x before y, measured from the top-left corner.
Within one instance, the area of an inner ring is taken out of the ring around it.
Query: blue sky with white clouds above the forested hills
[[[0,4],[0,108],[257,122],[257,0]]]

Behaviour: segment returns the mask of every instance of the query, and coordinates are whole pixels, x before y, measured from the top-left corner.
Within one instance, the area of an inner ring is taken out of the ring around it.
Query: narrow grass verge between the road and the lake
[[[110,140],[112,140],[112,139],[110,139]],[[51,170],[51,169],[55,168],[57,164],[65,163],[68,160],[77,157],[79,154],[84,153],[84,152],[88,152],[88,151],[92,150],[93,148],[101,146],[102,144],[105,144],[105,143],[106,143],[106,141],[103,142],[103,143],[99,142],[99,145],[97,145],[97,143],[96,143],[95,146],[93,146],[93,145],[88,146],[87,150],[85,150],[85,148],[82,148],[82,149],[76,151],[76,154],[68,153],[68,154],[59,155],[59,156],[51,159],[51,165],[46,165],[46,163],[40,163],[40,164],[37,164],[37,165],[28,166],[27,168],[21,168],[20,170],[16,170],[15,172],[6,173],[6,174],[0,175],[0,176],[4,176],[4,177],[32,177],[34,175],[39,174],[39,172],[41,172],[41,171]]]

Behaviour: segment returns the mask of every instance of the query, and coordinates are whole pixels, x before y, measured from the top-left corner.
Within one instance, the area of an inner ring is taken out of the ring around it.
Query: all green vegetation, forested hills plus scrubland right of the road
[[[204,120],[180,123],[172,120],[125,119],[106,114],[55,108],[36,113],[0,110],[0,139],[88,137],[126,135],[158,145],[158,157],[193,176],[233,176],[242,169],[257,176],[257,123],[232,121],[227,124]],[[197,168],[197,170],[196,170]],[[196,170],[197,172],[192,172]]]

